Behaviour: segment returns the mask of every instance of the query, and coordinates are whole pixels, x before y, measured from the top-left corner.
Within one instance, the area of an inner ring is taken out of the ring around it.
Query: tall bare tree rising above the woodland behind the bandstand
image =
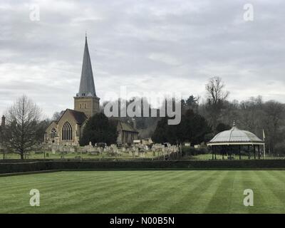
[[[222,113],[224,102],[229,96],[228,91],[224,91],[225,84],[222,78],[213,77],[209,79],[206,85],[207,91],[207,114],[209,115],[210,124],[213,130],[217,127],[219,116]]]

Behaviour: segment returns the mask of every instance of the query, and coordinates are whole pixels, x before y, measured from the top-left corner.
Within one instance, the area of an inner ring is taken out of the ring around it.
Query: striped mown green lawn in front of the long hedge
[[[285,171],[275,170],[51,172],[0,177],[0,191],[0,213],[285,213]]]

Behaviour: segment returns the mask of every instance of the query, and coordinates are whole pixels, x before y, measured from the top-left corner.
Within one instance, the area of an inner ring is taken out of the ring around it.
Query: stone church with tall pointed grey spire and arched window
[[[88,118],[100,111],[100,98],[95,92],[93,71],[87,37],[83,53],[83,65],[79,92],[74,97],[74,110],[66,109],[61,117],[46,129],[44,142],[56,145],[78,145]],[[133,143],[138,131],[130,124],[118,120],[118,143]]]

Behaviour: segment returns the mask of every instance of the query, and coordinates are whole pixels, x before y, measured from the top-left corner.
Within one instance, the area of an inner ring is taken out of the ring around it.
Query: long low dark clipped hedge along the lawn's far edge
[[[41,161],[1,163],[0,173],[41,170],[219,170],[285,169],[285,160],[201,160],[201,161]]]

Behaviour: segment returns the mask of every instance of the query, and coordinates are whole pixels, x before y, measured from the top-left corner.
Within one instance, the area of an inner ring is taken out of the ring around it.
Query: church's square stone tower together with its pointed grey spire
[[[93,71],[88,50],[87,36],[85,38],[85,48],[83,54],[83,64],[81,72],[81,83],[79,92],[74,97],[74,110],[86,114],[88,118],[99,113],[99,100],[95,92]]]

